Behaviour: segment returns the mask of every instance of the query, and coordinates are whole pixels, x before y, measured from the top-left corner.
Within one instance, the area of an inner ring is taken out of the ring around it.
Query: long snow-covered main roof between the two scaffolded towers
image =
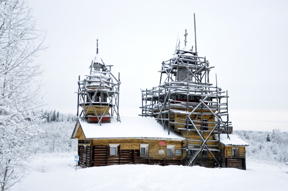
[[[79,124],[78,124],[79,123]],[[163,130],[155,118],[151,117],[128,117],[122,116],[121,123],[111,118],[111,123],[99,124],[88,123],[86,119],[78,119],[71,138],[75,138],[77,130],[81,126],[85,138],[152,138],[165,140],[185,140],[180,133]]]

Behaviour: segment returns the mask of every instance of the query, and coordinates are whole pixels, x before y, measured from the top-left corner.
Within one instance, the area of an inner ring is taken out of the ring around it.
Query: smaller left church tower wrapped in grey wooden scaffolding
[[[120,73],[118,79],[111,73],[113,65],[105,65],[97,51],[94,60],[90,65],[90,74],[85,75],[86,79],[78,79],[78,101],[77,116],[87,119],[89,123],[107,123],[112,116],[119,116],[119,88]],[[120,121],[121,122],[121,121]]]

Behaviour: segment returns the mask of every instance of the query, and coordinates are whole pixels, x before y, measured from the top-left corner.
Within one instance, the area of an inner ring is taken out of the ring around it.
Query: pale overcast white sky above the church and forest
[[[122,81],[120,115],[141,113],[140,88],[157,86],[177,33],[211,66],[228,90],[233,128],[288,131],[287,1],[38,1],[29,0],[50,47],[37,57],[45,72],[46,109],[76,113],[78,76],[99,54]],[[195,47],[195,46],[194,46]]]

